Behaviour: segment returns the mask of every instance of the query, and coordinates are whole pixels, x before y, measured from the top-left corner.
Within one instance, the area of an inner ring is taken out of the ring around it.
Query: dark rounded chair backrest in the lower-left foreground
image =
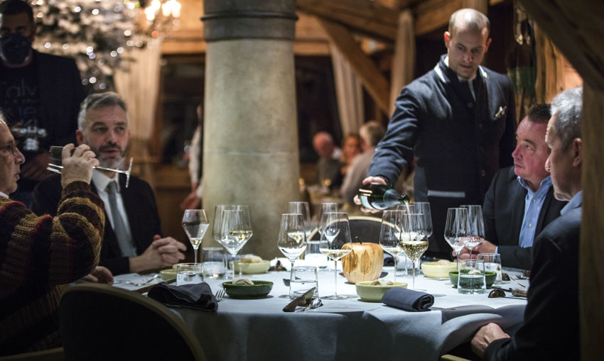
[[[166,306],[104,284],[78,284],[60,302],[65,360],[205,360],[195,335]]]

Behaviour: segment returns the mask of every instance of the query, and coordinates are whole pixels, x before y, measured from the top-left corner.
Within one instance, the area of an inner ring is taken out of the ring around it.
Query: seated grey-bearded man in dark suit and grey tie
[[[92,94],[82,102],[77,143],[90,145],[102,167],[115,169],[124,162],[130,135],[126,111],[122,98],[112,92]],[[114,207],[111,183],[115,187]],[[168,267],[184,259],[180,252],[186,250],[183,243],[161,238],[155,196],[149,184],[131,177],[126,188],[124,174],[94,170],[90,185],[103,200],[107,218],[99,265],[113,274],[123,274]],[[54,215],[60,194],[58,174],[44,179],[34,190],[33,211]]]

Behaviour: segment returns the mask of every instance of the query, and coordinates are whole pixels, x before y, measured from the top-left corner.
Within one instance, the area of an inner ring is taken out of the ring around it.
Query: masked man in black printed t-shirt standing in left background
[[[31,48],[33,10],[21,0],[0,3],[0,109],[26,155],[12,198],[31,203],[48,175],[50,145],[75,143],[77,111],[85,93],[75,62]]]

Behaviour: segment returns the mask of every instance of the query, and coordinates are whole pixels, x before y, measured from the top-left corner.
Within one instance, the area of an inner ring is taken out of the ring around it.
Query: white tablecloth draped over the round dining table
[[[392,279],[392,267],[384,271]],[[117,279],[127,277],[132,276]],[[407,312],[360,301],[355,285],[338,276],[338,294],[355,298],[325,300],[315,310],[285,313],[281,310],[289,299],[279,296],[288,293],[283,279],[289,272],[248,277],[274,282],[266,299],[225,299],[215,313],[173,308],[193,330],[208,360],[438,360],[486,323],[517,328],[526,305],[524,299],[458,294],[448,279],[416,276],[416,288],[433,294],[435,302],[431,311]],[[410,276],[398,278],[411,284]],[[207,279],[212,290],[220,282]],[[512,282],[502,286],[517,287]],[[319,272],[319,296],[330,294],[333,272]]]

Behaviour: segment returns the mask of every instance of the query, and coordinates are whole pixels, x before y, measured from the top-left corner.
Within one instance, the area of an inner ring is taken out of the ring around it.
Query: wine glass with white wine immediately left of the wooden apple
[[[323,234],[319,243],[319,249],[323,255],[333,260],[333,295],[325,299],[350,299],[348,296],[338,295],[338,260],[352,249],[343,250],[342,246],[350,243],[350,224],[348,223],[348,213],[328,212],[323,213],[320,222],[323,225]]]

